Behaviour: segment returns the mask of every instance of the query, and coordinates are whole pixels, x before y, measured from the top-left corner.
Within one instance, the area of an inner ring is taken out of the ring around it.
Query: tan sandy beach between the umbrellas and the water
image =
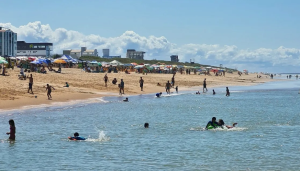
[[[165,93],[165,83],[171,82],[172,74],[131,74],[108,73],[108,85],[104,86],[103,77],[105,73],[86,73],[77,68],[63,68],[62,73],[48,72],[47,74],[32,73],[33,76],[33,92],[28,93],[29,79],[18,79],[19,69],[8,70],[9,76],[0,76],[0,109],[18,109],[28,105],[51,104],[54,102],[66,102],[71,100],[84,100],[89,98],[103,96],[119,96],[118,84],[121,79],[125,83],[126,95],[149,94],[163,92]],[[29,75],[29,73],[26,73]],[[144,79],[144,91],[139,87],[139,79]],[[112,84],[112,80],[116,78],[117,84]],[[178,86],[179,92],[182,90],[194,90],[195,87],[202,92],[203,80],[207,80],[208,92],[212,91],[212,87],[219,86],[249,86],[269,81],[266,75],[257,78],[257,74],[249,74],[239,76],[237,73],[226,73],[223,76],[206,76],[206,75],[185,75],[177,73],[175,76],[175,85]],[[63,87],[68,82],[70,87]],[[161,86],[157,86],[160,83]],[[52,91],[52,100],[48,100],[46,95],[46,84],[50,84],[55,88]],[[196,90],[196,89],[195,89]],[[174,92],[172,89],[171,92]]]

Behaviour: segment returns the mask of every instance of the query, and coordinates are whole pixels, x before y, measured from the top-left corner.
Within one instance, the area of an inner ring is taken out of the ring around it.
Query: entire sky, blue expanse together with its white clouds
[[[19,41],[63,49],[145,51],[145,59],[300,72],[298,0],[0,0]]]

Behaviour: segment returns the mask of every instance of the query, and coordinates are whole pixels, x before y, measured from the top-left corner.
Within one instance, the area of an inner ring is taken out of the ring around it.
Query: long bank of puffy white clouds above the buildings
[[[268,67],[297,67],[300,65],[300,49],[259,48],[255,50],[239,49],[235,45],[207,45],[185,44],[178,46],[165,37],[144,37],[134,31],[125,31],[119,37],[102,37],[100,35],[84,35],[74,30],[58,28],[52,30],[49,24],[39,21],[23,26],[13,26],[11,23],[0,23],[0,26],[10,28],[18,33],[18,40],[27,42],[51,42],[54,44],[53,53],[62,53],[63,49],[79,49],[86,46],[88,49],[101,50],[109,48],[111,55],[126,56],[127,49],[136,49],[146,52],[146,59],[170,60],[170,55],[177,54],[182,62],[195,59],[202,64],[219,65],[228,67],[265,66]],[[262,64],[263,63],[263,64]],[[258,65],[259,64],[259,65]],[[242,69],[242,68],[238,68]],[[243,68],[245,69],[245,68]],[[250,69],[250,68],[249,68]]]

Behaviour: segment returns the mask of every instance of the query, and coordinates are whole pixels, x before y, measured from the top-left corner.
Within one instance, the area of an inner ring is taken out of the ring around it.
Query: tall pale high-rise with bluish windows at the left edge
[[[17,55],[17,33],[0,27],[0,56]]]

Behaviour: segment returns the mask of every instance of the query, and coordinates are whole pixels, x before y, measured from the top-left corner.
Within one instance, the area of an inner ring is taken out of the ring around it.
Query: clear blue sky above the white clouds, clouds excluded
[[[1,8],[5,17],[1,17],[0,23],[11,23],[16,28],[29,22],[40,21],[42,25],[48,24],[52,30],[64,28],[87,36],[116,38],[126,31],[133,31],[146,38],[163,36],[178,47],[206,44],[220,47],[236,46],[239,51],[256,51],[260,48],[276,50],[283,46],[292,48],[292,58],[300,61],[299,54],[297,55],[299,53],[297,50],[300,49],[300,1],[297,0],[0,0],[0,2],[5,4],[5,8]],[[274,54],[277,54],[277,51],[272,53]],[[194,58],[197,62],[197,56]],[[216,59],[216,63],[220,62],[226,61]],[[264,60],[262,62],[267,62],[268,66],[274,65],[274,62]],[[286,66],[288,64],[277,67]],[[293,67],[295,67],[293,71],[298,70],[296,66]]]

